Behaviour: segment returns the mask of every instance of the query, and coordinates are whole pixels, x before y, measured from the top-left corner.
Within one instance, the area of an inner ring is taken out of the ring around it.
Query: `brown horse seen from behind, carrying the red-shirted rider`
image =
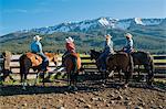
[[[70,53],[64,57],[64,67],[68,74],[69,88],[76,88],[77,75],[81,72],[81,58],[76,53]]]

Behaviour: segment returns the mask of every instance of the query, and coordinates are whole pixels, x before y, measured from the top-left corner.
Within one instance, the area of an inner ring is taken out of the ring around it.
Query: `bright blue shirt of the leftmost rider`
[[[39,41],[33,41],[31,43],[31,51],[34,53],[42,53],[42,44]]]

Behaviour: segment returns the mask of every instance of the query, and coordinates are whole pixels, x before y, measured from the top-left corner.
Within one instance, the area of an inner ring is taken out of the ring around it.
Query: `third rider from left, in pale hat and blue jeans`
[[[105,40],[106,41],[105,41],[105,45],[104,45],[104,51],[101,54],[101,56],[98,57],[98,62],[101,63],[102,72],[106,70],[106,57],[108,56],[108,54],[114,53],[112,36],[110,34],[106,34]]]

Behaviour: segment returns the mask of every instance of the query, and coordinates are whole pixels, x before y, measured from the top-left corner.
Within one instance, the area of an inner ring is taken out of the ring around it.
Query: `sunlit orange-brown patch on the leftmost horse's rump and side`
[[[34,53],[25,53],[27,57],[31,59],[32,66],[39,66],[42,64],[42,58],[38,54]]]

